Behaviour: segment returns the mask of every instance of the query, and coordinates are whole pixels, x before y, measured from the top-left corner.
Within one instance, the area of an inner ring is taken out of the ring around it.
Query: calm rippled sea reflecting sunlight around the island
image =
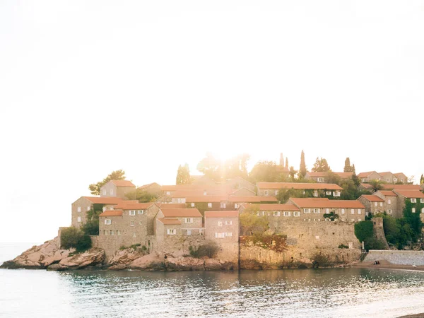
[[[0,245],[0,264],[27,245]],[[424,272],[48,272],[0,269],[0,317],[399,317],[424,312]]]

